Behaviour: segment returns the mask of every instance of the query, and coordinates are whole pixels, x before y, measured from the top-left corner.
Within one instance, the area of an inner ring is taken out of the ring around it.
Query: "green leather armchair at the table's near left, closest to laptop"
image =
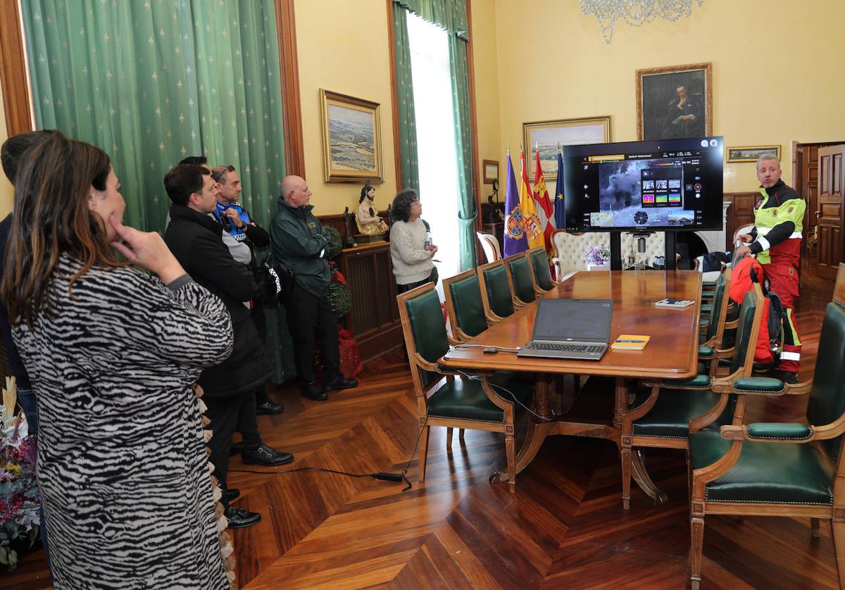
[[[438,366],[438,359],[449,352],[449,342],[440,299],[432,283],[402,293],[396,301],[423,429],[419,480],[425,481],[428,431],[432,426],[487,430],[504,434],[508,483],[510,491],[515,491],[515,409],[531,401],[532,387],[509,379],[499,381],[500,387],[493,387],[486,379],[468,379]]]

